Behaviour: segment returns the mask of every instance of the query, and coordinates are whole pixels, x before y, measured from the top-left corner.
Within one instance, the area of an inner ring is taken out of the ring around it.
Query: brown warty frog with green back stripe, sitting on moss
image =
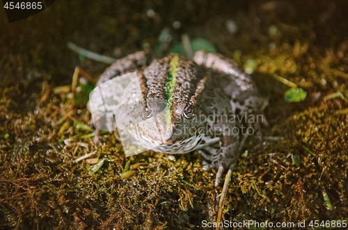
[[[218,53],[196,51],[189,60],[179,54],[153,58],[152,52],[145,50],[118,59],[101,74],[97,85],[132,72],[144,100],[124,106],[119,114],[130,117],[127,122],[132,124],[137,117],[155,119],[158,131],[145,122],[132,125],[126,134],[164,154],[198,149],[208,162],[202,169],[217,170],[214,186],[219,186],[223,172],[233,169],[239,156],[236,122],[222,118],[260,114],[263,99],[251,76]],[[121,99],[113,100],[120,105]],[[125,133],[118,131],[119,139]],[[98,138],[96,135],[95,140]]]

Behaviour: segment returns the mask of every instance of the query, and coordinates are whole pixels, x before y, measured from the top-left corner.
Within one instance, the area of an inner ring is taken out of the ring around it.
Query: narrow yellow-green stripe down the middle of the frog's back
[[[167,129],[169,129],[171,124],[171,117],[172,117],[171,107],[173,103],[173,91],[177,83],[177,69],[179,68],[179,58],[177,55],[173,56],[169,65],[171,67],[169,68],[168,78],[166,79],[166,87],[165,87],[167,104],[168,104],[168,110],[166,111],[166,128]]]

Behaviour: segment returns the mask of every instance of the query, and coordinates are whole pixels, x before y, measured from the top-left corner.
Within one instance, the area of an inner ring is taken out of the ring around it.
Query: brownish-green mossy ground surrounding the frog
[[[106,67],[79,60],[66,42],[119,58],[155,47],[174,21],[182,24],[171,28],[176,42],[188,33],[241,64],[253,59],[253,79],[270,98],[266,138],[246,141],[224,220],[348,220],[345,1],[147,4],[57,1],[14,24],[1,15],[8,33],[0,38],[0,227],[199,229],[202,220],[215,220],[222,188],[214,188],[214,170],[201,170],[198,152],[125,158],[112,134],[97,145],[93,137],[81,138],[93,132],[81,126],[90,122],[86,100],[49,91],[70,85],[75,66],[93,76]],[[147,16],[149,8],[155,17]],[[228,19],[235,20],[236,34],[226,30]],[[305,90],[305,101],[285,101],[289,87],[274,74]],[[325,99],[334,92],[343,97]],[[91,165],[74,160],[93,151],[93,158],[107,161],[90,175]],[[132,171],[125,176],[128,161]]]

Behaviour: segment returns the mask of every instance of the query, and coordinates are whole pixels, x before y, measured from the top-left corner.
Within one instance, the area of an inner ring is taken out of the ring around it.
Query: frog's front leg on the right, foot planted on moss
[[[214,156],[212,163],[205,165],[203,170],[209,171],[217,168],[215,187],[219,186],[220,178],[228,168],[235,167],[239,155],[239,135],[234,133],[234,124],[218,123],[213,124],[210,135],[219,135],[220,149]],[[207,131],[209,133],[209,131]]]

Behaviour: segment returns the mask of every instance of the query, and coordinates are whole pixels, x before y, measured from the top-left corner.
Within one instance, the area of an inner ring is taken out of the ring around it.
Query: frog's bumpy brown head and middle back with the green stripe
[[[203,133],[198,104],[207,73],[186,58],[171,54],[154,60],[143,72],[148,85],[143,107],[143,138],[172,145]]]

